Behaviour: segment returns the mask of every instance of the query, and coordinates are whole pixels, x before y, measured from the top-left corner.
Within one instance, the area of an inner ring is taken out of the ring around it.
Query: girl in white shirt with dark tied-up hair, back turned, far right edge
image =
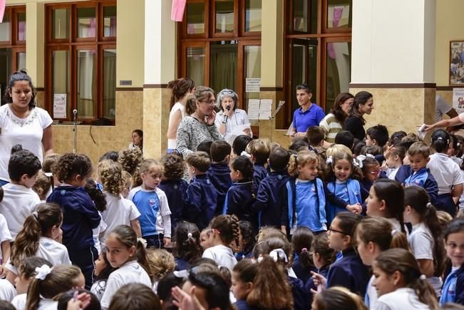
[[[456,203],[463,193],[464,177],[460,167],[448,156],[450,135],[442,129],[435,130],[432,134],[431,146],[436,153],[431,155],[427,164],[438,185],[439,210],[455,215]]]

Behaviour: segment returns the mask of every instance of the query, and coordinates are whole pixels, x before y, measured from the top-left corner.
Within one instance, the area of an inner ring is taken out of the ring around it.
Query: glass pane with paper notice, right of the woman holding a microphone
[[[244,47],[244,73],[245,78],[261,78],[261,46]],[[245,80],[245,83],[247,81]],[[245,87],[242,108],[247,110],[249,99],[259,99],[259,91],[247,92]]]

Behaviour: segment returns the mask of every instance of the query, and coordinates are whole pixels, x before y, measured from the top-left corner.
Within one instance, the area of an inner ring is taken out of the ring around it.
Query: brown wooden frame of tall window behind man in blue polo
[[[308,5],[310,4],[310,0]],[[294,0],[289,0],[289,6],[284,6],[284,24],[289,26],[285,27],[284,33],[284,98],[288,104],[284,105],[284,117],[276,118],[280,122],[276,122],[277,128],[286,129],[292,123],[293,110],[292,102],[296,100],[295,91],[292,89],[292,42],[298,39],[315,39],[318,41],[317,48],[317,60],[316,60],[316,85],[310,85],[312,88],[316,88],[318,91],[316,96],[311,98],[312,102],[315,102],[325,110],[326,108],[326,57],[327,57],[327,43],[330,42],[351,42],[351,28],[346,29],[327,29],[327,0],[316,0],[318,1],[318,24],[317,33],[303,33],[293,31],[293,3]],[[351,3],[351,6],[353,4]],[[308,11],[308,27],[310,28],[311,12]],[[307,71],[306,71],[307,74]]]

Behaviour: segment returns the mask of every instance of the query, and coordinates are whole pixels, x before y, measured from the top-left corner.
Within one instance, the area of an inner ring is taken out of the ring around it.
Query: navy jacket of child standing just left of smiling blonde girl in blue
[[[287,195],[287,172],[269,172],[259,184],[253,210],[259,212],[259,227],[272,226],[280,229],[289,224],[289,201]]]

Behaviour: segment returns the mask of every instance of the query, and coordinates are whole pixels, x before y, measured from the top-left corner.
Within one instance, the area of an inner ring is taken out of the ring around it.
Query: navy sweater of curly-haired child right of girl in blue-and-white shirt
[[[171,210],[171,228],[175,232],[177,224],[182,222],[182,214],[184,211],[184,201],[187,196],[188,183],[185,180],[163,180],[158,186],[160,190],[165,192],[167,203]]]

